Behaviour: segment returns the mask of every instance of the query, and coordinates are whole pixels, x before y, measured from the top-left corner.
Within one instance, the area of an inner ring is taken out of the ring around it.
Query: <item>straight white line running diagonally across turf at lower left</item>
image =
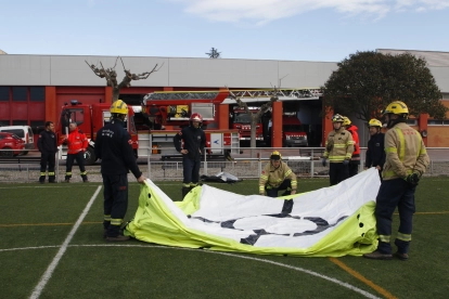
[[[61,246],[60,250],[57,251],[56,256],[53,258],[53,261],[50,263],[50,265],[47,268],[46,273],[43,273],[42,277],[40,278],[38,285],[35,287],[35,290],[33,291],[30,299],[37,299],[39,298],[40,294],[42,292],[43,288],[46,287],[47,283],[51,278],[51,275],[53,274],[54,269],[56,269],[57,263],[60,262],[61,258],[65,253],[65,250],[67,250],[68,244],[70,243],[72,238],[74,237],[76,231],[78,230],[79,225],[81,225],[82,220],[85,219],[86,214],[89,212],[90,207],[92,206],[93,202],[95,200],[97,196],[99,195],[101,190],[101,185],[98,186],[95,193],[90,198],[89,203],[87,204],[85,210],[79,216],[78,220],[76,221],[74,227],[68,233],[67,237],[65,238],[63,245]]]

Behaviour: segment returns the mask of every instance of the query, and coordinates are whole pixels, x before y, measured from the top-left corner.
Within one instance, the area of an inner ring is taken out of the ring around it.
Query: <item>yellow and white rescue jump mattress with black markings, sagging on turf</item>
[[[147,180],[125,234],[220,251],[361,256],[377,246],[374,207],[380,185],[379,172],[371,168],[337,185],[282,198],[202,185],[176,203]]]

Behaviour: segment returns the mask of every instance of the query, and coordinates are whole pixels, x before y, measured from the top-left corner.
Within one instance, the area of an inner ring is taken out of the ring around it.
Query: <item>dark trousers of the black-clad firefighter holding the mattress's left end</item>
[[[107,236],[116,237],[128,209],[128,176],[102,173],[104,185],[104,214],[111,214],[111,221],[104,221]]]

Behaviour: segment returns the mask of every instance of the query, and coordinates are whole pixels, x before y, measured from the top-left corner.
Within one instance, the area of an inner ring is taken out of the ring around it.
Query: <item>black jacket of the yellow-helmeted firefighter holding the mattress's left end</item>
[[[95,156],[101,159],[101,173],[142,176],[131,146],[131,136],[120,119],[114,119],[97,132]]]

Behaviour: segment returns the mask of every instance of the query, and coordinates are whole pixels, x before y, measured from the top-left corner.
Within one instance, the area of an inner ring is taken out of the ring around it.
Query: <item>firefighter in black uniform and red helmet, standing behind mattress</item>
[[[200,181],[201,155],[204,153],[206,145],[206,134],[201,125],[203,117],[194,113],[190,117],[190,126],[182,128],[174,138],[176,151],[182,154],[182,199]],[[181,147],[181,140],[184,141]]]

